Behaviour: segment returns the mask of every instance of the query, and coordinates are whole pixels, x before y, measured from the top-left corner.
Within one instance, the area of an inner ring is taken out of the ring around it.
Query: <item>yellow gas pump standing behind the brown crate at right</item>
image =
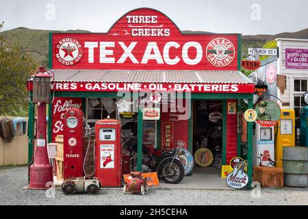
[[[281,110],[275,142],[276,167],[283,168],[283,146],[295,146],[295,112]]]

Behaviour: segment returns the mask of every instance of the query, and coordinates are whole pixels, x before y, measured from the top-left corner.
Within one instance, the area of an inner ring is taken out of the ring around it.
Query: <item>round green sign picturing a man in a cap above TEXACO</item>
[[[255,106],[257,111],[257,123],[264,127],[271,127],[278,123],[281,109],[275,101],[259,101]]]

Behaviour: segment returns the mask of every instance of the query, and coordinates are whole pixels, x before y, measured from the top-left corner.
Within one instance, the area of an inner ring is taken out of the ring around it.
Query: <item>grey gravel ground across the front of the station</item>
[[[55,190],[47,198],[43,190],[23,190],[27,167],[0,168],[0,205],[308,205],[308,188],[261,188],[261,198],[251,190],[170,190],[150,188],[146,195],[122,194],[120,189],[103,189],[99,195],[65,196]],[[172,198],[172,199],[170,199]]]

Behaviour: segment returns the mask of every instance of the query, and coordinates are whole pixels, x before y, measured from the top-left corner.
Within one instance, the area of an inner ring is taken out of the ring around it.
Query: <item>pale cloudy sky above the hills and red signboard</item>
[[[307,0],[0,0],[1,31],[107,32],[120,16],[142,7],[163,12],[181,30],[255,35],[308,28]]]

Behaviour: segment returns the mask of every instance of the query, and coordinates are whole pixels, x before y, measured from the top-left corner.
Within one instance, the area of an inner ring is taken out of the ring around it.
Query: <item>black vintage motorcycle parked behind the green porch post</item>
[[[123,148],[131,151],[131,171],[137,168],[137,138],[131,136],[123,143]],[[165,183],[177,184],[182,181],[185,170],[179,160],[181,146],[170,151],[164,151],[160,157],[149,153],[149,150],[142,146],[142,170],[141,172],[156,171],[159,179]]]

